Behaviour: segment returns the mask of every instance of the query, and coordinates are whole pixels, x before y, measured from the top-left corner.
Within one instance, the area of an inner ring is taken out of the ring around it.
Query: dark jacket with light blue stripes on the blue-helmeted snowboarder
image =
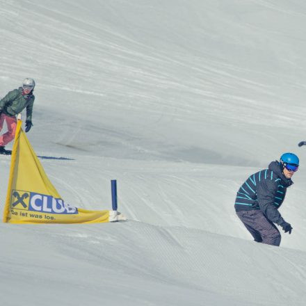
[[[266,218],[280,225],[284,219],[277,210],[284,202],[287,188],[293,182],[287,179],[278,161],[268,169],[251,175],[239,188],[236,196],[236,211],[260,209]]]

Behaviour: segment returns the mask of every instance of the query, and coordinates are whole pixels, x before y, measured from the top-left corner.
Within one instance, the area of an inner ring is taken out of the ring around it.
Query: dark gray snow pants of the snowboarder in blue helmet
[[[280,245],[280,231],[260,210],[236,211],[237,216],[254,237],[261,243]]]

